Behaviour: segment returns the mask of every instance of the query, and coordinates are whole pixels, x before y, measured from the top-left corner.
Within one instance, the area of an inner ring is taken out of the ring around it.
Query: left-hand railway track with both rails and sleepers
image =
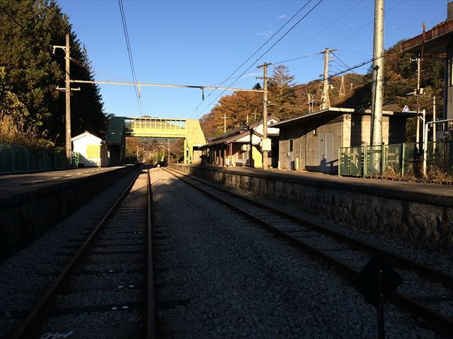
[[[139,171],[11,338],[155,338],[149,171]],[[81,246],[79,245],[81,242]]]

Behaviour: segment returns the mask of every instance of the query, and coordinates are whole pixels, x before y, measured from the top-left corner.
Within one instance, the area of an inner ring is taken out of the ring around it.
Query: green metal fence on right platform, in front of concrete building
[[[429,170],[452,174],[452,141],[429,142],[427,150]],[[421,171],[423,154],[421,144],[418,148],[417,143],[342,147],[338,156],[338,174],[356,177],[417,174]]]

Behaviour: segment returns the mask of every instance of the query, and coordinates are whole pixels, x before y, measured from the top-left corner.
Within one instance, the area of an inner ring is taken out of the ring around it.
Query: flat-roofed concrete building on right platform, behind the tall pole
[[[409,112],[382,112],[382,142],[403,143]],[[278,168],[338,174],[340,147],[369,145],[371,111],[330,107],[280,121]]]

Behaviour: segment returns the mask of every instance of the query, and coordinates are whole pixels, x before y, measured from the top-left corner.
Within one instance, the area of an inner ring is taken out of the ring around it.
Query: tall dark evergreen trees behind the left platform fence
[[[70,32],[71,78],[93,80],[84,45],[55,1],[0,1],[0,143],[64,144],[64,45]],[[96,85],[71,95],[72,136],[103,135],[106,117]]]

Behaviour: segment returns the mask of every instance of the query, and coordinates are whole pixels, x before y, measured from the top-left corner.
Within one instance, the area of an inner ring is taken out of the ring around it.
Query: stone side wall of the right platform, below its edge
[[[453,250],[452,199],[435,193],[285,177],[270,171],[246,173],[220,167],[170,166],[350,227],[400,238],[420,248]]]

